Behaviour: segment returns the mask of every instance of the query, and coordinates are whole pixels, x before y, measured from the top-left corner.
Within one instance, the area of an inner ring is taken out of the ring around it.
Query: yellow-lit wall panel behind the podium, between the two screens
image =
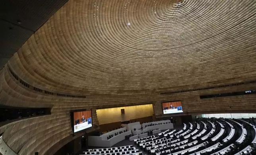
[[[124,109],[124,114],[121,115],[121,109]],[[137,119],[154,114],[152,104],[140,106],[127,106],[118,108],[107,108],[96,110],[99,124],[130,121],[130,119]]]

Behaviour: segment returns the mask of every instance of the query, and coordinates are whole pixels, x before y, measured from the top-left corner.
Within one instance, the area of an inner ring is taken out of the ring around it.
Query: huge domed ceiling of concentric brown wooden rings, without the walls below
[[[254,0],[70,0],[10,60],[29,84],[131,93],[256,75]]]

